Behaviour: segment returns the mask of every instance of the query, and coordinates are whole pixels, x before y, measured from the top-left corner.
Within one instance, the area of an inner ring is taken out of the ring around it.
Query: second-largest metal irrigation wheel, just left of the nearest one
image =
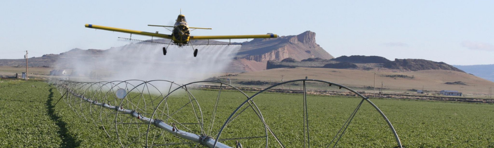
[[[247,98],[238,88],[216,81],[182,85],[166,95],[151,115],[155,120],[148,126],[146,147],[210,148],[218,142],[223,148],[229,148],[238,140],[267,146],[267,130],[255,106],[245,108],[242,116],[231,120],[231,125],[242,127],[243,123],[250,122],[259,130],[232,130],[224,139],[213,138],[219,133],[221,124],[218,123],[224,122],[226,115]]]

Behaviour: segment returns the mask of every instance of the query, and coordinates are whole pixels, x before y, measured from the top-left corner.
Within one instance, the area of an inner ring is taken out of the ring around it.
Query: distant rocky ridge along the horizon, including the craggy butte
[[[252,72],[282,67],[320,67],[345,68],[359,70],[390,70],[396,72],[422,70],[451,70],[463,72],[443,62],[422,59],[395,59],[390,61],[379,56],[341,56],[334,58],[316,43],[316,33],[306,31],[296,36],[281,36],[278,38],[256,38],[242,43],[232,64],[226,72]],[[150,40],[148,40],[150,41]],[[169,42],[168,39],[154,39],[157,42]],[[138,42],[147,43],[147,42]],[[193,44],[228,44],[215,40],[193,40]],[[107,49],[116,50],[116,49]],[[58,54],[47,54],[42,57],[29,58],[30,66],[54,67],[58,59],[77,56],[97,57],[107,50],[79,48]],[[90,60],[90,59],[88,59]],[[338,64],[339,63],[339,64]],[[0,60],[0,66],[23,66],[25,59]]]

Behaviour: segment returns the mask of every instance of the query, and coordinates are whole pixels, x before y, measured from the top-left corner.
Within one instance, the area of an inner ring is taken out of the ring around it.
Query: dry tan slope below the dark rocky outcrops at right
[[[302,79],[307,76],[309,79],[321,79],[346,86],[363,88],[374,86],[374,73],[375,87],[380,87],[382,82],[384,92],[403,92],[410,89],[421,90],[423,87],[424,90],[428,91],[457,90],[463,92],[468,97],[475,97],[488,95],[489,87],[494,86],[494,82],[472,74],[446,70],[393,73],[324,68],[281,68],[241,73],[231,78],[239,80],[281,81],[281,77],[284,75],[284,80],[287,81]],[[466,85],[446,84],[447,82],[456,81],[461,81]]]

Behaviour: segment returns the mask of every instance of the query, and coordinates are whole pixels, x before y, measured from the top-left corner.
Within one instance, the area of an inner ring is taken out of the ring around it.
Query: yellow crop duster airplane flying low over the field
[[[143,36],[150,36],[150,37],[161,37],[161,38],[167,38],[171,39],[174,44],[183,46],[183,45],[188,45],[191,44],[190,40],[191,39],[239,39],[239,38],[276,38],[278,35],[275,34],[267,34],[267,35],[238,35],[238,36],[190,36],[190,29],[196,30],[196,29],[211,29],[211,28],[198,28],[198,27],[189,27],[187,24],[187,21],[185,21],[185,16],[180,14],[178,15],[178,18],[175,22],[174,26],[162,26],[162,25],[148,25],[148,26],[156,26],[156,27],[165,27],[166,29],[168,28],[173,28],[171,31],[171,35],[165,35],[165,34],[159,34],[158,32],[156,33],[151,33],[151,32],[142,32],[142,31],[135,31],[135,30],[128,30],[128,29],[120,29],[120,28],[113,28],[113,27],[106,27],[106,26],[99,26],[99,25],[92,25],[92,24],[85,24],[84,25],[86,28],[94,28],[94,29],[101,29],[101,30],[107,30],[107,31],[115,31],[115,32],[122,32],[122,33],[129,33],[130,37],[132,37],[132,34],[135,35],[143,35]],[[125,39],[130,39],[130,38],[125,38]],[[170,43],[171,43],[170,41]],[[170,43],[167,43],[168,45]],[[192,44],[191,44],[192,46]],[[194,47],[192,46],[192,49],[194,50]],[[163,47],[163,54],[166,55],[166,48]],[[194,50],[194,57],[197,56],[197,49]]]

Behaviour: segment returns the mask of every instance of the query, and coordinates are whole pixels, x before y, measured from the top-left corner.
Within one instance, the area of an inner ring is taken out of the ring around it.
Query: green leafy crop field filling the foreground
[[[226,118],[246,99],[238,92],[222,91],[214,125],[210,126],[210,116],[218,92],[191,90],[191,93],[201,105],[205,116],[204,127],[210,128],[204,131],[211,136],[216,135]],[[103,94],[93,96],[101,95]],[[111,111],[82,104],[85,102],[81,103],[74,96],[55,105],[61,96],[56,87],[41,81],[0,83],[0,147],[117,148],[121,144],[116,130],[119,131],[123,145],[145,145],[146,136],[142,135],[147,129],[142,127],[147,128],[147,124],[121,124],[115,129],[115,124],[112,125],[115,114]],[[194,113],[191,106],[179,110],[190,101],[188,96],[186,93],[171,96],[166,102],[166,108],[165,104],[159,106],[161,113],[155,113],[153,118],[163,119],[165,112],[177,111],[174,115],[176,120],[181,123],[197,123],[196,118],[192,117]],[[127,100],[132,104],[123,105],[125,109],[136,110],[151,117],[154,108],[161,101],[159,97],[130,93]],[[262,112],[266,124],[287,148],[302,147],[304,133],[301,94],[264,93],[253,100]],[[307,96],[311,146],[326,147],[361,100],[355,97]],[[116,100],[106,101],[113,101],[112,105],[119,104]],[[371,101],[389,118],[402,144],[407,148],[494,148],[494,105],[395,99]],[[198,106],[194,107],[198,109]],[[247,109],[249,110],[228,124],[220,139],[265,134],[255,112]],[[91,114],[91,111],[97,113]],[[100,115],[110,119],[101,121]],[[118,114],[117,118],[119,122],[138,122],[127,117],[127,114]],[[186,127],[190,127],[190,131],[202,130],[193,124]],[[163,140],[173,142],[172,135],[161,132],[158,128],[150,129],[150,144],[162,144]],[[271,134],[268,135],[269,148],[278,147]],[[239,141],[246,148],[259,148],[266,140],[257,138]],[[234,145],[234,141],[223,143]],[[396,142],[384,119],[369,103],[364,102],[336,147],[393,148],[396,147]]]

